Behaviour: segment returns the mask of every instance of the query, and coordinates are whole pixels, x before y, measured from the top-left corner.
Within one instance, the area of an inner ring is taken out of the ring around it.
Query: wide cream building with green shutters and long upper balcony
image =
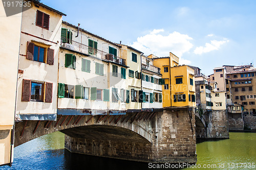
[[[62,22],[58,114],[124,114],[127,72],[120,45]]]

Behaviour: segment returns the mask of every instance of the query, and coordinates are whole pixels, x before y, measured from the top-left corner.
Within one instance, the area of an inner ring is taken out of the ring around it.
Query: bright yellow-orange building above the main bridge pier
[[[196,106],[194,69],[179,65],[179,58],[173,53],[169,57],[158,58],[154,55],[154,65],[161,69],[163,75],[163,107]]]

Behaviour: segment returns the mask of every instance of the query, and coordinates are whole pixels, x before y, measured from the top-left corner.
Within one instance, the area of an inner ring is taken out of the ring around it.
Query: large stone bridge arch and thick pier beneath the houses
[[[124,115],[58,115],[15,124],[15,147],[55,131],[70,152],[125,160],[196,163],[195,108]]]

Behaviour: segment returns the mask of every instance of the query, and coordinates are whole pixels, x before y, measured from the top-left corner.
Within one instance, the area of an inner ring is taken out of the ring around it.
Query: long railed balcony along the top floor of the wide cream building
[[[61,38],[62,39],[62,38]],[[92,48],[88,45],[81,44],[79,42],[68,40],[71,43],[60,43],[60,47],[68,48],[69,50],[76,51],[82,54],[90,55],[93,57],[97,57],[102,60],[112,61],[118,64],[125,65],[125,59],[114,56],[113,54],[109,54],[98,49]]]

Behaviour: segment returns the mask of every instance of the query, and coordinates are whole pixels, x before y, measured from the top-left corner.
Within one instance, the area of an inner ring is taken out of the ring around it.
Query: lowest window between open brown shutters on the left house
[[[31,99],[30,101],[43,102],[44,101],[44,84],[31,82]]]

